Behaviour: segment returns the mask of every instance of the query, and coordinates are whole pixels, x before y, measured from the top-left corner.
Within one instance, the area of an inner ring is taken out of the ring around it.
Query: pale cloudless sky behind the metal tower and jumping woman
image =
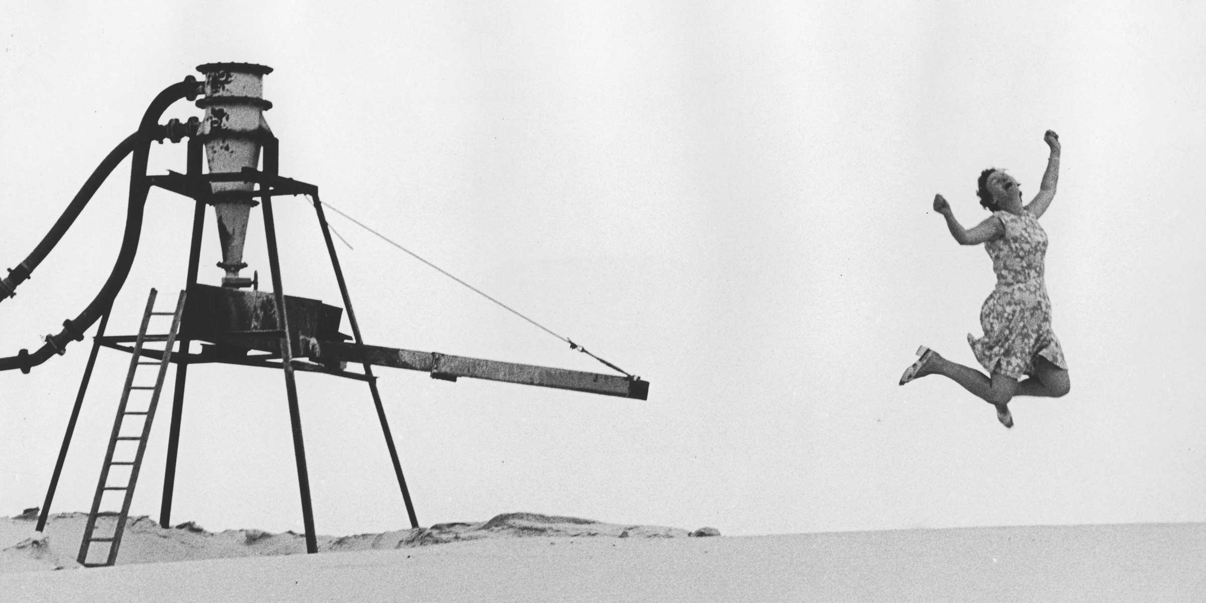
[[[281,174],[650,381],[648,402],[377,369],[421,525],[533,511],[725,534],[1206,521],[1206,7],[1192,2],[53,2],[0,8],[0,268],[166,86],[275,71]],[[189,103],[163,116],[187,119]],[[980,247],[930,210],[1034,194],[1072,392],[1017,426],[896,385],[974,364]],[[151,174],[185,171],[153,146]],[[0,356],[75,317],[117,254],[129,163],[0,304]],[[339,305],[312,211],[275,203],[289,294]],[[268,281],[263,223],[246,260]],[[111,334],[185,282],[192,201],[156,189]],[[212,212],[201,282],[221,259]],[[607,371],[330,216],[369,344]],[[94,330],[94,329],[93,329]],[[344,332],[350,333],[345,322]],[[89,333],[90,335],[92,333]],[[0,374],[0,515],[41,504],[90,340]],[[87,510],[129,357],[103,350],[55,511]],[[283,377],[194,367],[172,522],[302,529]],[[299,375],[320,533],[406,527],[368,388]],[[165,400],[170,393],[165,392]],[[134,514],[158,516],[169,404]]]

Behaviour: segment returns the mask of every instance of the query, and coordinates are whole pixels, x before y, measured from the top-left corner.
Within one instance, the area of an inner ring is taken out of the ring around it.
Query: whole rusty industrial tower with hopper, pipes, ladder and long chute
[[[41,349],[34,352],[21,350],[13,356],[0,357],[0,370],[19,369],[22,373],[29,373],[30,369],[55,355],[64,353],[68,344],[72,340],[83,340],[84,333],[98,320],[100,321],[47,488],[46,500],[41,508],[37,523],[37,529],[41,531],[49,515],[51,503],[99,349],[110,347],[131,355],[109,450],[101,466],[94,503],[89,513],[84,539],[81,543],[78,556],[81,563],[89,567],[110,566],[117,557],[122,531],[146,449],[147,434],[156,416],[169,364],[175,364],[176,369],[159,514],[160,525],[164,527],[170,525],[176,452],[180,441],[180,416],[188,367],[198,363],[228,363],[273,368],[281,370],[285,376],[302,515],[309,552],[316,552],[317,545],[310,504],[302,418],[298,411],[298,394],[294,382],[294,371],[297,370],[324,373],[368,384],[412,527],[418,527],[418,521],[377,391],[376,377],[373,374],[374,365],[421,370],[429,373],[434,379],[447,381],[455,381],[458,377],[485,379],[642,400],[648,398],[649,384],[628,374],[595,374],[365,345],[332,242],[330,228],[327,224],[323,204],[318,197],[318,187],[282,177],[279,174],[279,140],[264,118],[264,111],[273,106],[263,98],[263,80],[265,75],[271,74],[271,68],[250,63],[211,63],[197,69],[204,74],[204,81],[188,76],[182,82],[169,86],[159,93],[147,107],[137,131],[113,148],[84,182],[58,222],[29,257],[11,269],[7,277],[0,280],[0,302],[2,302],[14,295],[17,287],[29,279],[117,164],[127,156],[133,156],[125,233],[109,280],[78,316],[63,321],[63,329],[59,333],[45,338],[46,344]],[[198,96],[201,98],[198,99]],[[204,116],[200,119],[194,116],[185,122],[170,119],[165,124],[160,124],[159,119],[163,112],[180,99],[195,99],[197,106],[204,109]],[[156,176],[146,174],[147,156],[152,141],[180,142],[186,137],[188,139],[188,153],[183,174],[172,171]],[[209,166],[207,171],[203,169],[203,154],[204,163]],[[113,299],[125,282],[137,250],[142,210],[152,186],[194,200],[185,291],[180,293],[172,311],[156,311],[156,292],[152,291],[141,328],[136,335],[106,335],[105,328],[112,311]],[[283,293],[273,218],[273,198],[299,194],[309,195],[314,201],[318,228],[343,297],[343,309]],[[218,265],[224,270],[224,275],[219,286],[198,282],[198,264],[207,205],[213,207],[222,247],[222,260]],[[242,252],[248,216],[251,210],[257,206],[263,212],[264,218],[271,292],[259,291],[258,279],[247,277],[242,273],[247,268],[242,260]],[[339,332],[345,311],[352,332],[350,336]],[[153,329],[151,324],[157,316],[171,317],[171,327],[168,328],[166,334],[148,333]],[[159,344],[162,347],[158,346]],[[199,349],[194,349],[194,344],[198,344]],[[576,344],[572,341],[570,346],[578,349]],[[349,363],[359,365],[362,370],[350,370]],[[154,370],[156,376],[152,381],[139,381],[140,379],[151,379],[137,376],[140,367],[144,365]],[[611,367],[614,368],[614,365]],[[135,450],[128,450],[130,447]],[[129,467],[129,479],[125,484],[107,482],[110,469],[117,466]],[[96,519],[103,515],[100,507],[106,492],[121,492],[123,504],[121,511],[116,514],[116,531],[98,534],[95,531]],[[93,545],[100,546],[101,544],[105,545],[104,561],[98,561],[89,556],[89,551]]]

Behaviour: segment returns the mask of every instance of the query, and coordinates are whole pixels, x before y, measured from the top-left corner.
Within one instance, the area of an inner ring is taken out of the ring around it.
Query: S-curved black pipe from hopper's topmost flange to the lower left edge
[[[92,303],[75,320],[63,321],[63,330],[57,335],[47,335],[46,345],[34,353],[22,350],[17,356],[0,358],[0,370],[21,369],[22,373],[29,373],[30,368],[46,362],[52,355],[63,353],[71,340],[82,340],[83,332],[88,327],[92,327],[113,303],[113,298],[117,297],[122,286],[125,285],[125,277],[130,274],[130,267],[134,265],[134,256],[139,248],[139,236],[142,232],[142,210],[146,205],[147,193],[151,191],[151,183],[146,177],[147,159],[151,154],[151,140],[157,134],[159,116],[172,103],[185,98],[193,99],[199,92],[200,84],[197,78],[188,76],[183,82],[164,88],[151,101],[151,105],[147,106],[146,112],[142,115],[142,122],[139,124],[139,131],[135,135],[137,140],[134,142],[134,160],[130,165],[130,194],[122,248],[117,253],[113,270],[110,273],[109,280],[100,288],[100,292],[96,293]]]

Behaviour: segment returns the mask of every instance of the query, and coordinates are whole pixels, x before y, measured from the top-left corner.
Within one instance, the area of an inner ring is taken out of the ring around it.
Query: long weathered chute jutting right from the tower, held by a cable
[[[320,362],[356,362],[396,369],[422,370],[431,373],[433,379],[446,381],[456,381],[457,377],[485,379],[639,400],[649,398],[648,381],[621,375],[601,375],[581,370],[468,358],[439,352],[416,352],[375,345],[318,341],[305,336],[302,338],[302,350],[311,359]]]

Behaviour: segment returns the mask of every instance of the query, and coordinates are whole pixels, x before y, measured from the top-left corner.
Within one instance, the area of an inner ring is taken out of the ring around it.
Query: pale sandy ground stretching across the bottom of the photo
[[[620,538],[633,526],[509,517],[444,525],[462,538],[434,545],[396,539],[414,532],[399,531],[343,539],[359,548],[346,552],[59,572],[16,568],[12,560],[31,554],[10,546],[0,601],[1206,601],[1206,525],[1198,523],[737,538],[645,527],[646,537]],[[186,529],[130,548],[172,549],[177,535],[192,538],[194,555],[212,541],[232,556],[233,534]],[[327,550],[340,550],[338,540],[326,539]]]

